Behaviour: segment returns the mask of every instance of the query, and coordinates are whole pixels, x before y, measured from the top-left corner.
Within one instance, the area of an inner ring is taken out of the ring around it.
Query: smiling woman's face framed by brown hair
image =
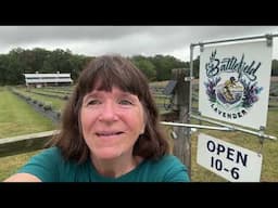
[[[144,132],[143,106],[137,95],[113,87],[86,94],[80,110],[83,134],[96,159],[130,156]]]

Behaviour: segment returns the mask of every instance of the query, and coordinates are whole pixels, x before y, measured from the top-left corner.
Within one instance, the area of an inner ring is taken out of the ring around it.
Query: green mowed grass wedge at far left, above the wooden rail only
[[[53,130],[52,121],[7,88],[0,88],[0,139]]]

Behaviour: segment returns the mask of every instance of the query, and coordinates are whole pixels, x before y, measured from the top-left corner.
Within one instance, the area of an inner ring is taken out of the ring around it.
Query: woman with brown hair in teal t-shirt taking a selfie
[[[93,60],[79,76],[51,147],[7,182],[186,182],[169,154],[148,80],[118,55]]]

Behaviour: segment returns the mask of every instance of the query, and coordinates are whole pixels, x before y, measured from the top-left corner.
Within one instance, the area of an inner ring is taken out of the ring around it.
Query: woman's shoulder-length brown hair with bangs
[[[60,147],[66,159],[84,162],[89,156],[79,117],[84,96],[96,88],[111,91],[113,86],[137,95],[144,109],[146,131],[135,143],[132,154],[143,158],[159,158],[169,152],[144,75],[128,58],[119,55],[103,55],[92,60],[81,72],[62,114],[61,132],[50,143]]]

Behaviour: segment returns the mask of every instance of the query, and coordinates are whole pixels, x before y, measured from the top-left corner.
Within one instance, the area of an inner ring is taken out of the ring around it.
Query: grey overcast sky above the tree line
[[[190,43],[266,34],[278,34],[278,26],[0,26],[0,53],[21,47],[70,49],[90,56],[162,54],[189,61]],[[278,60],[277,39],[273,58]]]

